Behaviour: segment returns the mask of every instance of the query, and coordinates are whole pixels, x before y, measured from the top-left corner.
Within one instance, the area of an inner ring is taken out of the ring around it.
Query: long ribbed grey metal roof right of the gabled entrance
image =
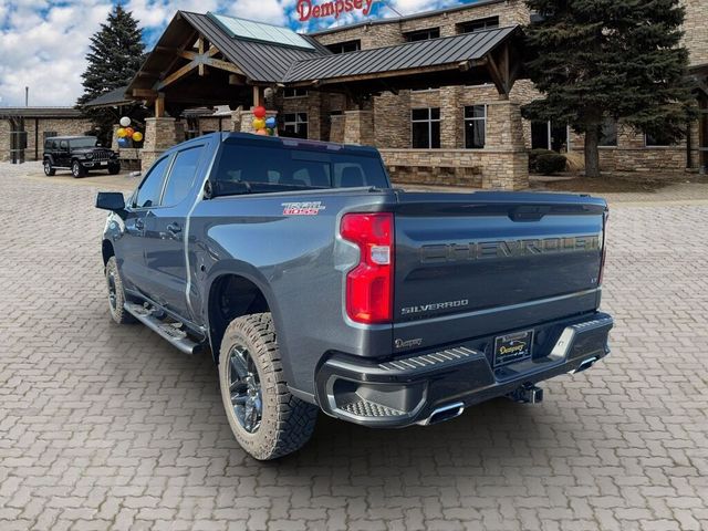
[[[283,81],[293,83],[330,80],[459,64],[482,59],[518,29],[518,25],[493,28],[461,35],[301,60],[290,67]]]

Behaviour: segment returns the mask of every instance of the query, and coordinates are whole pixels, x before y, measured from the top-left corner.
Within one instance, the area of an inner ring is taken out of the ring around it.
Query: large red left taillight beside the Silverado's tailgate
[[[360,248],[360,261],[346,275],[346,313],[357,323],[387,323],[394,302],[394,215],[346,214],[342,238]]]

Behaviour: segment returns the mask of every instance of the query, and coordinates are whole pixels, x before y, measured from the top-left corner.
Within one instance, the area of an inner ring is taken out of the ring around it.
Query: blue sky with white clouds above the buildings
[[[324,0],[312,0],[313,4]],[[410,14],[475,0],[377,0],[368,19]],[[83,92],[88,38],[106,20],[115,0],[0,0],[0,106],[73,105]],[[148,50],[177,10],[214,11],[313,31],[333,20],[302,23],[296,0],[121,0],[144,29]],[[362,20],[341,15],[337,25]]]

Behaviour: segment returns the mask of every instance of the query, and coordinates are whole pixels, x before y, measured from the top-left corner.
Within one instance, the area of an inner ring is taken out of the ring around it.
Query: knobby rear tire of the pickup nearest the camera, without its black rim
[[[229,354],[235,346],[248,348],[261,384],[263,410],[254,433],[241,426],[231,405]],[[319,408],[288,391],[270,313],[244,315],[227,326],[219,355],[219,386],[231,431],[253,458],[277,459],[299,450],[310,440]]]

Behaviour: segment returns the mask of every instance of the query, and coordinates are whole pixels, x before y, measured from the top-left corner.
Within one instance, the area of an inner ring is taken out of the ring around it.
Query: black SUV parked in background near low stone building
[[[83,177],[90,169],[107,169],[111,175],[121,171],[118,154],[102,147],[95,136],[52,136],[44,140],[44,174],[56,169],[71,169],[74,177]]]

